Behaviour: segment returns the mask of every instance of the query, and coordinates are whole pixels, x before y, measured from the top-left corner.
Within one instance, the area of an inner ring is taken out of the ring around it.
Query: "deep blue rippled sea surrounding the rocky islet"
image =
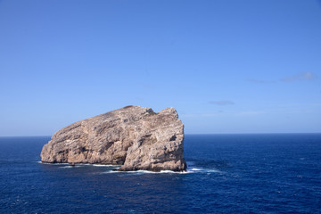
[[[321,134],[186,135],[188,172],[39,163],[0,137],[0,213],[321,213]]]

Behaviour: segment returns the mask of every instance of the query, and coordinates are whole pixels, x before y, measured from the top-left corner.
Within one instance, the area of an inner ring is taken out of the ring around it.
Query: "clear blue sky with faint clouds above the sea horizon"
[[[0,136],[126,105],[185,134],[320,133],[321,1],[0,0]]]

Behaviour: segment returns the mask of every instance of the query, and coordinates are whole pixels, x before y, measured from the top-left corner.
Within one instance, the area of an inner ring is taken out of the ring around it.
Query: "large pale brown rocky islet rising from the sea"
[[[122,165],[119,170],[184,171],[184,125],[169,107],[127,106],[80,120],[56,132],[41,161]]]

